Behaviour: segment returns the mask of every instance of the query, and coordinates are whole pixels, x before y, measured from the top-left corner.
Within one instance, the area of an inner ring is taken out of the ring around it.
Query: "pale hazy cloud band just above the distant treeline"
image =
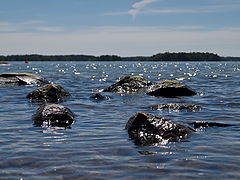
[[[95,27],[72,33],[0,34],[1,54],[116,54],[204,51],[240,56],[240,28],[203,31],[202,27]],[[201,29],[201,30],[199,30]]]

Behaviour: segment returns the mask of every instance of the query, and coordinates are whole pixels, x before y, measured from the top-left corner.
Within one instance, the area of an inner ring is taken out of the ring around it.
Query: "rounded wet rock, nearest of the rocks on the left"
[[[42,127],[66,127],[74,122],[73,112],[59,104],[42,105],[33,115],[34,125]]]

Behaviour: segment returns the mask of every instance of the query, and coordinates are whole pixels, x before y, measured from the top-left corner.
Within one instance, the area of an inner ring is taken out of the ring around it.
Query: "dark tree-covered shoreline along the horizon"
[[[10,55],[0,56],[0,62],[8,61],[240,61],[240,57],[221,57],[209,52],[158,53],[153,56],[120,57],[117,55]]]

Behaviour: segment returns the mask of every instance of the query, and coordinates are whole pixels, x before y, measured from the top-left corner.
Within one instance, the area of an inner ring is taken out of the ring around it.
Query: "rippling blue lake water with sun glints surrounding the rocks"
[[[76,115],[71,129],[34,127],[38,108],[26,99],[35,86],[0,87],[0,179],[240,179],[239,62],[12,62],[0,73],[31,72],[62,85],[61,103]],[[152,82],[180,80],[198,92],[181,98],[111,94],[89,96],[125,75]],[[162,103],[190,103],[198,112],[154,111]],[[198,129],[186,142],[141,147],[124,129],[130,116],[149,112],[186,124],[228,123]]]

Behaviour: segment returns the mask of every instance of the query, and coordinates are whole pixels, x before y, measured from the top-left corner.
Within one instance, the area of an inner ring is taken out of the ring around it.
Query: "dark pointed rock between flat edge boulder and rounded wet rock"
[[[71,96],[62,86],[58,84],[47,84],[39,87],[27,95],[27,98],[34,101],[62,102],[66,97]]]

